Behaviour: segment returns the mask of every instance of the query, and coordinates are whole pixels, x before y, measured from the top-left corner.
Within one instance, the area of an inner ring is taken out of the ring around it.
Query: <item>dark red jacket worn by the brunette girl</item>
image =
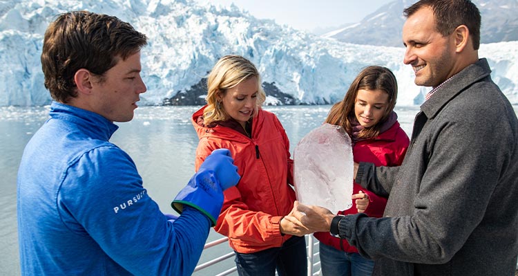
[[[370,162],[376,166],[399,166],[403,163],[403,158],[405,157],[409,143],[410,140],[407,134],[401,129],[399,122],[395,122],[390,129],[387,129],[387,131],[378,135],[376,138],[356,142],[356,145],[354,145],[352,149],[354,162]],[[354,182],[353,194],[358,194],[360,191],[367,194],[370,199],[365,214],[369,217],[383,217],[387,199],[377,196],[369,190],[365,190],[361,185]],[[353,200],[351,208],[340,211],[338,214],[356,214],[357,212],[356,203],[355,200]],[[333,246],[338,250],[358,252],[356,247],[351,246],[346,239],[333,237],[329,232],[316,232],[314,236],[321,243]]]

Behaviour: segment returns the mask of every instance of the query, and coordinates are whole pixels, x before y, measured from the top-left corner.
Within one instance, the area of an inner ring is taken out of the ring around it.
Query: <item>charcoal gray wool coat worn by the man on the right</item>
[[[490,72],[480,59],[421,105],[401,166],[360,164],[356,181],[390,195],[385,216],[338,229],[373,275],[515,275],[518,121]]]

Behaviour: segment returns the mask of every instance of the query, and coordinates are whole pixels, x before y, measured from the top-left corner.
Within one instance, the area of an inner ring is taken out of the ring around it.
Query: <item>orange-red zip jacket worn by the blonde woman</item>
[[[229,237],[230,246],[240,253],[280,247],[291,237],[281,236],[279,221],[289,214],[295,201],[293,160],[289,140],[278,118],[259,110],[253,118],[251,138],[229,127],[198,125],[202,109],[192,122],[200,142],[195,169],[214,149],[231,151],[241,179],[236,187],[224,191],[224,203],[215,231]]]

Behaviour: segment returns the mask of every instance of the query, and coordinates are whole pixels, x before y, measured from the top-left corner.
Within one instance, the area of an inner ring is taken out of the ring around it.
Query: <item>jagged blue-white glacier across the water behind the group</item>
[[[115,15],[148,36],[142,50],[148,91],[141,104],[200,104],[203,78],[227,54],[244,55],[258,66],[269,94],[267,104],[336,102],[361,68],[371,64],[394,71],[399,105],[420,104],[429,90],[414,84],[401,47],[317,37],[256,19],[236,6],[199,6],[192,0],[10,0],[0,1],[0,106],[50,102],[39,60],[44,30],[59,13],[80,9]],[[518,42],[503,42],[482,45],[479,51],[515,104],[517,49]]]

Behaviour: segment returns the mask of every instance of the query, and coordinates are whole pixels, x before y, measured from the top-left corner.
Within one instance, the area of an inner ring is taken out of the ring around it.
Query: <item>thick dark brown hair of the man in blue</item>
[[[117,17],[84,10],[66,12],[48,26],[41,53],[45,87],[66,103],[77,96],[75,73],[85,68],[103,81],[106,71],[146,45],[146,35]]]

